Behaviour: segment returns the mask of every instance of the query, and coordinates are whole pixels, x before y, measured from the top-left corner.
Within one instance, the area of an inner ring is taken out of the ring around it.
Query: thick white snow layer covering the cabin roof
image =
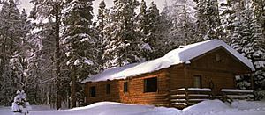
[[[246,59],[246,57],[244,57],[242,54],[239,54],[235,49],[228,46],[222,40],[207,40],[187,45],[182,48],[174,49],[170,51],[168,54],[165,54],[163,57],[157,58],[152,61],[133,63],[125,65],[123,67],[110,68],[104,70],[100,74],[87,77],[87,79],[82,81],[82,83],[99,82],[99,81],[107,81],[114,79],[125,79],[129,76],[151,73],[156,70],[160,70],[162,68],[169,68],[172,65],[190,61],[193,58],[200,56],[201,54],[208,53],[209,51],[215,49],[216,47],[225,48],[228,52],[230,52],[232,55],[238,58],[239,61],[246,64],[248,68],[254,70],[254,66],[251,61]]]

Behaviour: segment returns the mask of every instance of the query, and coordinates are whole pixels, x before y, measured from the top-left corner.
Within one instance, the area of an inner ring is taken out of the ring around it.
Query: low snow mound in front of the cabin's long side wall
[[[65,114],[76,114],[76,115],[144,115],[144,114],[172,114],[179,110],[165,107],[155,107],[152,105],[139,105],[139,104],[121,104],[114,102],[100,102],[91,104],[85,107],[74,108],[67,110]]]

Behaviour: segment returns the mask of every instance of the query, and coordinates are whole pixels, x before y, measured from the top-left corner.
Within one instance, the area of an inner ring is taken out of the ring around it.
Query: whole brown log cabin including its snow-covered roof
[[[171,106],[171,96],[181,96],[170,95],[172,90],[210,90],[218,96],[222,89],[236,88],[235,75],[253,70],[251,61],[222,40],[207,40],[179,47],[152,61],[107,69],[82,83],[86,104],[112,101]]]

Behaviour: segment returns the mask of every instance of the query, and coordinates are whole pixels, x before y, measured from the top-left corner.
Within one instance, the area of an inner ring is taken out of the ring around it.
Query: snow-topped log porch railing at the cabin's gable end
[[[170,106],[178,109],[200,103],[209,99],[220,99],[223,102],[231,102],[233,99],[254,100],[253,90],[222,89],[221,95],[213,95],[208,88],[181,88],[170,90]]]

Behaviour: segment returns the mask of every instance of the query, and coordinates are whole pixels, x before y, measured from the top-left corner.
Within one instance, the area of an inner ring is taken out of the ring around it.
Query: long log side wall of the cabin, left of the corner
[[[168,77],[166,70],[159,70],[151,74],[143,74],[128,78],[126,80],[114,80],[106,82],[87,83],[86,98],[87,104],[101,101],[113,101],[129,104],[169,104]],[[144,92],[144,79],[157,77],[157,91]],[[124,92],[124,83],[128,82],[128,92]],[[106,94],[106,85],[110,84],[110,94]],[[96,87],[96,96],[90,97],[89,88]]]

